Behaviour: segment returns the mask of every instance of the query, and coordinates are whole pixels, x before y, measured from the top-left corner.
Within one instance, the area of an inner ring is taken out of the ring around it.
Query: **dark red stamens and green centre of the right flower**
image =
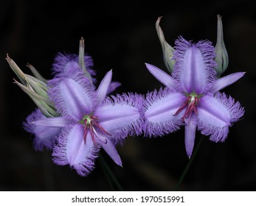
[[[183,119],[189,118],[194,112],[196,115],[198,114],[197,105],[199,103],[201,95],[197,95],[196,93],[186,94],[187,99],[183,102],[181,107],[174,114],[175,116],[181,112],[184,108],[186,108]]]

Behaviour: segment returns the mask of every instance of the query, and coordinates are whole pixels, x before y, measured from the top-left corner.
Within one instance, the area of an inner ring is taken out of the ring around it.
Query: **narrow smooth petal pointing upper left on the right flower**
[[[172,88],[173,90],[177,89],[177,82],[175,79],[173,79],[173,77],[170,77],[169,74],[165,73],[165,71],[162,71],[154,65],[148,63],[145,63],[145,65],[148,68],[148,71],[150,71],[151,74],[153,74],[153,77],[156,77],[159,82],[161,82],[167,88]]]

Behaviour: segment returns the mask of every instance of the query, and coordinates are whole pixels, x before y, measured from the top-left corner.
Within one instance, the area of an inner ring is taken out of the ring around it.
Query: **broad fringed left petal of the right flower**
[[[148,93],[145,103],[145,135],[165,135],[179,129],[184,110],[175,114],[185,99],[183,94],[171,92],[168,88]]]

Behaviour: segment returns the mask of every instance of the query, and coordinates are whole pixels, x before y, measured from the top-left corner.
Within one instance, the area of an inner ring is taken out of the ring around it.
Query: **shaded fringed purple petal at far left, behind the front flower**
[[[58,135],[60,134],[60,127],[44,127],[32,124],[33,121],[38,119],[46,119],[46,117],[41,113],[41,110],[37,109],[35,112],[31,113],[30,116],[26,118],[24,122],[24,129],[27,132],[35,135],[33,144],[36,150],[42,151],[44,147],[46,149],[52,149],[54,143],[58,140]]]

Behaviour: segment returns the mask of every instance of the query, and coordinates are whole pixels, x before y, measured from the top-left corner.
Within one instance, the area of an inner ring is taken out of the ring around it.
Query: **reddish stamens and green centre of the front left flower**
[[[110,135],[103,127],[100,126],[100,124],[97,122],[98,117],[92,116],[92,115],[86,115],[83,116],[83,119],[79,121],[80,124],[83,124],[84,132],[83,132],[83,139],[86,143],[86,136],[88,132],[91,134],[91,140],[94,142],[94,144],[97,144],[97,141],[95,138],[97,138],[98,141],[101,143],[107,143],[107,139],[105,138],[105,135]]]

